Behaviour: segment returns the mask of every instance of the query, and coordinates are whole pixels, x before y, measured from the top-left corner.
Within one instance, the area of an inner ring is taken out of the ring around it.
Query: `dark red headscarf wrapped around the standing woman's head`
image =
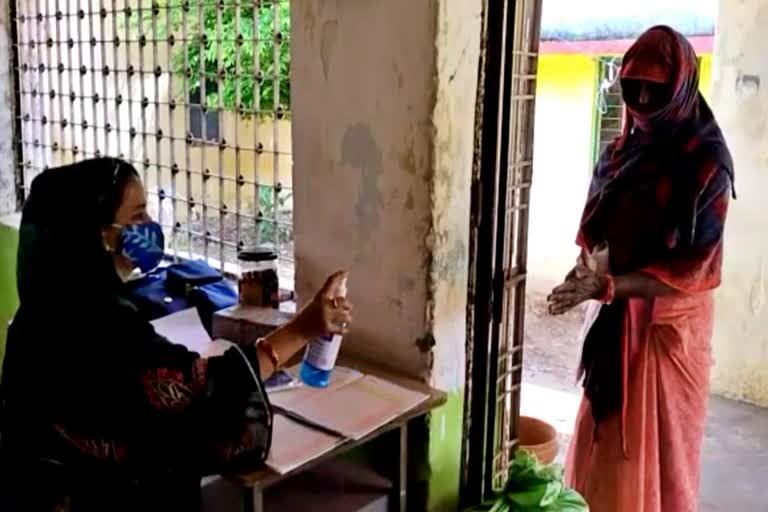
[[[699,69],[696,53],[688,40],[666,26],[656,26],[641,35],[627,50],[621,66],[622,79],[647,80],[668,84],[670,101],[652,114],[641,114],[627,107],[627,122],[619,142],[623,146],[636,124],[675,131],[690,121],[699,104]]]

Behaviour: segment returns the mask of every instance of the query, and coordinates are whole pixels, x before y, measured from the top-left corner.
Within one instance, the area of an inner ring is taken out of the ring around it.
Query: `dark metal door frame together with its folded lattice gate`
[[[464,505],[498,487],[516,446],[541,2],[484,3],[470,219]]]

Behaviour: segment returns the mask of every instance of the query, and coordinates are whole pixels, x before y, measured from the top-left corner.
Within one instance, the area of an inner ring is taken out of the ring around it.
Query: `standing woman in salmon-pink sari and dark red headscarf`
[[[698,92],[696,55],[675,30],[644,33],[624,56],[627,120],[602,155],[578,244],[549,297],[592,304],[584,399],[569,484],[594,512],[696,512],[733,163]]]

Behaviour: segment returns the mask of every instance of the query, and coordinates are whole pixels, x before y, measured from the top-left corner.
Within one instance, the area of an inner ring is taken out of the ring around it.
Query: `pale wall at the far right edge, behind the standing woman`
[[[720,0],[712,102],[736,166],[713,390],[768,405],[768,0]]]

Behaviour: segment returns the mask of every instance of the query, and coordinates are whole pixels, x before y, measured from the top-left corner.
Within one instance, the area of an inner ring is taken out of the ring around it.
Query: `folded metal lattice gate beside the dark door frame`
[[[528,261],[528,215],[533,174],[533,132],[536,100],[541,1],[513,3],[514,30],[510,74],[507,171],[499,180],[503,221],[501,243],[501,323],[495,371],[492,488],[504,487],[518,445],[518,420],[523,371],[523,320]]]

